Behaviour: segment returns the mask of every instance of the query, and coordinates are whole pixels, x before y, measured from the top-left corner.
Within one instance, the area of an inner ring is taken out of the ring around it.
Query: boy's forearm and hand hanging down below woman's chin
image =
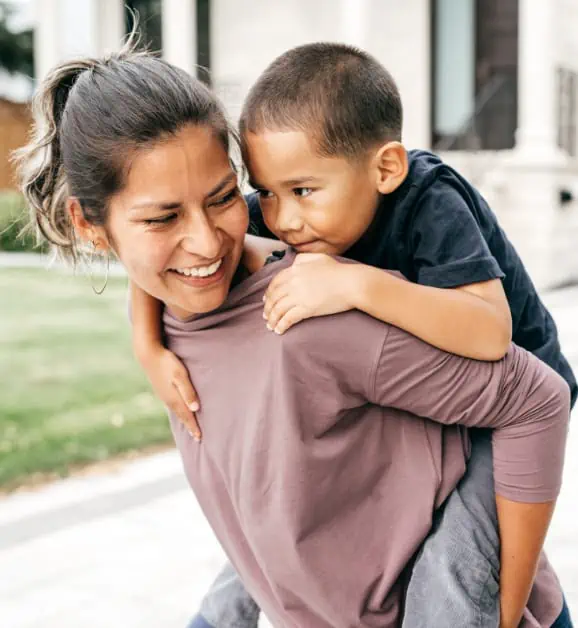
[[[163,345],[162,304],[132,281],[130,314],[133,350],[156,395],[199,441],[201,430],[194,414],[199,410],[197,394],[185,366]]]

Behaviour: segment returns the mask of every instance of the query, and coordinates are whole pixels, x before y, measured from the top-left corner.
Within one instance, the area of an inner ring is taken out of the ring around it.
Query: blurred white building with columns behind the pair
[[[37,76],[116,48],[125,4],[232,117],[292,46],[368,50],[399,83],[408,147],[442,153],[482,189],[540,286],[578,277],[578,0],[36,0]]]

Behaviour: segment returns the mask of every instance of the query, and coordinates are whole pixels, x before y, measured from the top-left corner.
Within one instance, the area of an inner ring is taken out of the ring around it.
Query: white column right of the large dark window
[[[521,159],[558,161],[553,0],[520,0],[518,131]]]

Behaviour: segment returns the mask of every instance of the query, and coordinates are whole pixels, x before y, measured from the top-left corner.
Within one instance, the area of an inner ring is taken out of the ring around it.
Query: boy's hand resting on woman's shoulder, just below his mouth
[[[343,264],[323,253],[301,253],[282,270],[263,297],[263,318],[277,334],[312,316],[327,316],[353,309],[352,282]]]

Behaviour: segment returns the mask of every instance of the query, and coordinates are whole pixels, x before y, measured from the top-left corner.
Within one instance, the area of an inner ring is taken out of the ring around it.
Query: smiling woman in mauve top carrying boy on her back
[[[356,312],[268,333],[264,289],[294,256],[244,271],[230,129],[204,86],[124,52],[60,66],[37,103],[20,157],[36,223],[72,259],[81,241],[114,252],[164,302],[207,417],[202,447],[172,419],[185,471],[276,625],[399,623],[412,557],[465,471],[456,420],[496,428],[497,487],[537,504],[545,534],[569,406],[548,367],[515,348],[497,364],[449,356]],[[524,625],[570,625],[539,550]]]

